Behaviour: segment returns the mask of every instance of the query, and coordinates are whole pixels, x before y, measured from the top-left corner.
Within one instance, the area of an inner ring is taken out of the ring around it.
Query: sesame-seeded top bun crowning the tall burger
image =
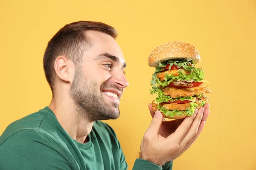
[[[186,42],[174,41],[158,45],[148,57],[148,65],[156,67],[166,60],[186,59],[198,63],[201,61],[198,50],[194,45]]]

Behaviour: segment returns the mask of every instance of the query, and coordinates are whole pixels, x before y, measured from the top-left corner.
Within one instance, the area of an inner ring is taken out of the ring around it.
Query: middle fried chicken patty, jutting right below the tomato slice
[[[195,96],[199,94],[211,93],[212,91],[209,87],[200,85],[198,87],[193,88],[172,88],[172,87],[164,87],[162,88],[164,95],[171,96],[172,98],[176,97],[189,97]]]

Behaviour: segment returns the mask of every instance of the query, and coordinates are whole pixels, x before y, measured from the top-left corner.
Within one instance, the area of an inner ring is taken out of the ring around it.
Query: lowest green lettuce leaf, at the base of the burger
[[[191,105],[191,107],[190,108],[186,108],[186,111],[179,111],[177,109],[175,109],[173,111],[169,111],[166,108],[162,108],[161,105],[158,105],[157,108],[160,110],[160,112],[162,112],[163,114],[165,114],[166,116],[169,116],[169,117],[174,117],[175,115],[182,115],[184,113],[187,116],[191,116],[195,112],[195,108],[198,105],[196,103],[194,103],[194,102],[190,102],[189,104]]]

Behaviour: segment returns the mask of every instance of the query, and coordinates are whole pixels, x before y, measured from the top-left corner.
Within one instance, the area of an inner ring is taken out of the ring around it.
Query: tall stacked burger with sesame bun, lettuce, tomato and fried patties
[[[157,94],[152,110],[159,110],[163,117],[184,119],[195,108],[204,106],[211,90],[204,85],[204,71],[195,68],[201,61],[195,46],[186,42],[169,42],[154,48],[148,57],[148,65],[155,67],[150,90]]]

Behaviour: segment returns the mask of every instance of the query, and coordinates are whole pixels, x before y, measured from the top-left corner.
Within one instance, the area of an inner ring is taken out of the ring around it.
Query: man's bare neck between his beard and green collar
[[[88,142],[87,136],[91,132],[95,121],[90,121],[84,116],[81,117],[79,108],[76,108],[71,99],[64,96],[55,96],[49,108],[72,139],[79,143]]]

